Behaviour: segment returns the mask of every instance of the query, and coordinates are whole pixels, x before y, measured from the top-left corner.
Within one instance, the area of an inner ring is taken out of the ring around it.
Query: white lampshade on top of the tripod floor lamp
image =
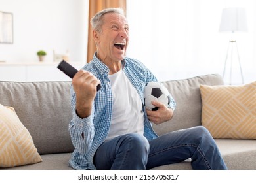
[[[224,8],[219,31],[248,31],[244,8]]]

